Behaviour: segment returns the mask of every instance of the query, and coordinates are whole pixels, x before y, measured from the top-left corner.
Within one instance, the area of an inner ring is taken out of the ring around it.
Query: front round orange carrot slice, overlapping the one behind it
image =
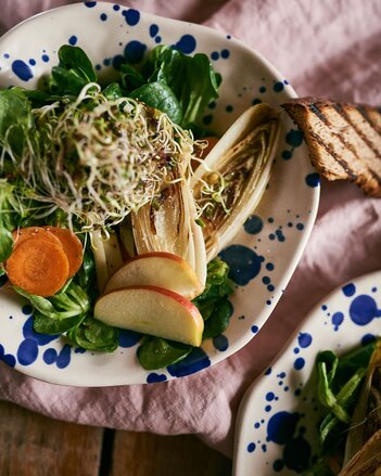
[[[48,297],[55,294],[68,278],[68,259],[53,242],[30,237],[17,245],[7,261],[12,284],[29,294]]]

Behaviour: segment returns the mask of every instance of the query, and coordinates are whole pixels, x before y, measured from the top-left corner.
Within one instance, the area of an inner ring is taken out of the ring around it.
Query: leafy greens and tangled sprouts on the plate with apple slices
[[[15,287],[34,307],[36,332],[66,333],[71,343],[88,350],[113,351],[118,346],[118,330],[92,317],[98,291],[87,232],[94,226],[106,230],[152,200],[178,157],[193,149],[193,134],[205,136],[200,119],[218,97],[220,80],[205,54],[188,56],[160,46],[139,68],[122,62],[117,80],[103,83],[80,48],[63,46],[59,64],[41,89],[0,90],[0,262],[12,254],[12,231],[23,227],[72,228],[85,250],[80,269],[54,296]],[[158,123],[165,134],[157,133]],[[163,152],[168,147],[160,142],[162,136],[170,142],[172,156]],[[129,160],[144,157],[130,168],[123,168],[120,160],[126,137]],[[92,157],[106,147],[112,151],[105,157],[111,166],[98,169]],[[142,177],[157,176],[157,164],[163,177],[144,189]],[[132,203],[130,209],[126,203]],[[228,273],[219,258],[211,261],[205,291],[194,299],[205,320],[203,338],[220,334],[229,323],[228,296],[233,286]],[[144,369],[158,369],[191,350],[191,346],[144,336],[138,358]]]

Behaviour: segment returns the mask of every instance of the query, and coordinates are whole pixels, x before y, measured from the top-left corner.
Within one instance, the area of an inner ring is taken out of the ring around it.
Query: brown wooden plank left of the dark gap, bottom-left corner
[[[1,476],[98,476],[102,428],[60,422],[0,402]]]

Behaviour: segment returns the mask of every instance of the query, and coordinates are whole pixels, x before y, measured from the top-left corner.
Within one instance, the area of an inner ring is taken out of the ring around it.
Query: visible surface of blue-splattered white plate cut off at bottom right
[[[237,476],[296,475],[317,452],[315,358],[343,353],[381,335],[381,272],[335,290],[306,318],[265,374],[247,389],[236,426]]]

